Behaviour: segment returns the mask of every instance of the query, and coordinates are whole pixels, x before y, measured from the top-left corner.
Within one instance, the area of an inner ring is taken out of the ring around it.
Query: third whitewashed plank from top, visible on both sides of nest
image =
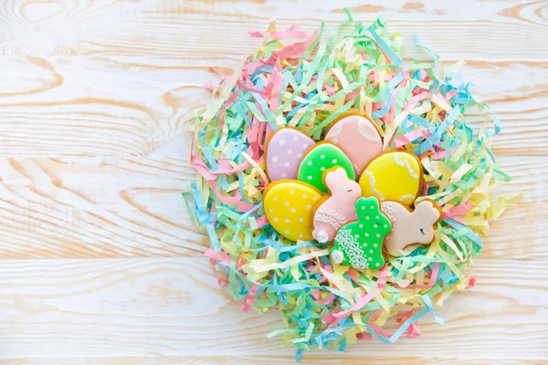
[[[0,159],[0,257],[201,256],[209,241],[181,197],[193,172],[167,156]],[[514,178],[500,195],[525,197],[492,225],[482,257],[548,258],[548,159],[500,164]]]

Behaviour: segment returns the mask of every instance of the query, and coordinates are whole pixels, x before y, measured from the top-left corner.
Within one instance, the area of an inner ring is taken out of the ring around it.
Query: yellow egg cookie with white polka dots
[[[291,241],[311,241],[312,207],[321,193],[306,183],[280,180],[267,187],[263,203],[272,227]]]

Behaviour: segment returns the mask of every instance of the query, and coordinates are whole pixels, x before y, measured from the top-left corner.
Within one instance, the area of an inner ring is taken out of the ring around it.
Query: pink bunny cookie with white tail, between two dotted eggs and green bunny
[[[355,203],[362,195],[360,185],[348,179],[342,167],[328,170],[323,180],[330,195],[314,212],[312,231],[312,237],[321,244],[332,241],[342,225],[356,220]]]

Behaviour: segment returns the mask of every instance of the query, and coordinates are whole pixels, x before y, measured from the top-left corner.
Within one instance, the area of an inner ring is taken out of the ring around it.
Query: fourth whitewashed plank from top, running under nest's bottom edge
[[[345,356],[406,359],[427,349],[432,358],[548,360],[547,270],[542,261],[479,259],[477,286],[437,309],[445,326],[424,318],[421,337],[397,351],[369,340]],[[265,338],[282,326],[279,314],[240,312],[205,258],[5,260],[0,277],[5,359],[66,358],[67,349],[75,358],[294,356]]]

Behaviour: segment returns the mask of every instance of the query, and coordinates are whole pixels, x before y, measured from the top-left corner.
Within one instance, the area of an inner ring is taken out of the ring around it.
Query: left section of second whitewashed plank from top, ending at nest
[[[0,57],[0,65],[13,71],[0,87],[2,156],[147,156],[181,135],[179,108],[208,98],[200,86],[209,74],[162,60]]]

